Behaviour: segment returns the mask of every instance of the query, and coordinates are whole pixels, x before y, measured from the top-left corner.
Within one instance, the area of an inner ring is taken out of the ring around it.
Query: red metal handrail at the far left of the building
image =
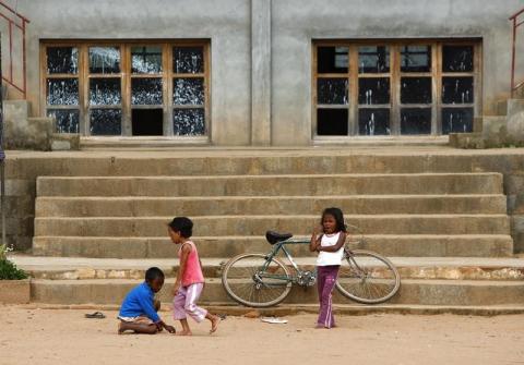
[[[9,75],[3,75],[2,78],[12,87],[17,89],[24,95],[24,99],[27,95],[27,54],[25,49],[25,34],[27,29],[27,24],[31,23],[29,20],[16,12],[16,10],[7,5],[3,1],[0,0],[0,17],[5,20],[9,23],[8,34],[9,34]],[[13,19],[14,17],[14,19]],[[20,23],[20,24],[19,24]],[[14,82],[13,76],[13,27],[22,31],[22,85],[17,85]]]

